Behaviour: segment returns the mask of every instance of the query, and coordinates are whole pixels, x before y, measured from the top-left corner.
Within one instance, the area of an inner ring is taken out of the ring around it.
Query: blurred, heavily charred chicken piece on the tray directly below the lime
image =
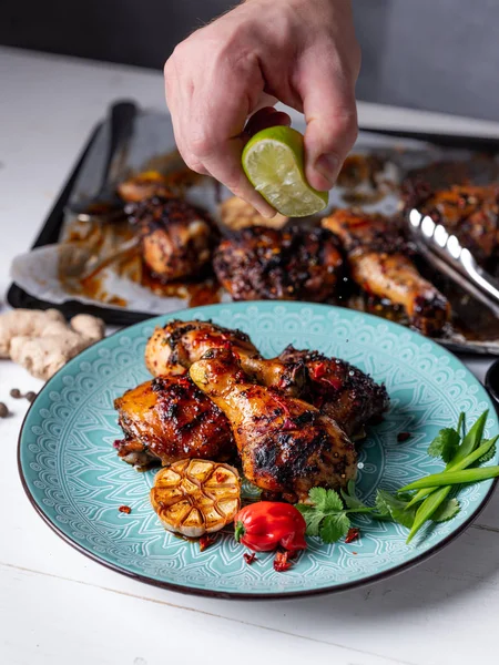
[[[222,241],[213,266],[234,300],[320,303],[334,294],[343,258],[326,229],[253,226]]]

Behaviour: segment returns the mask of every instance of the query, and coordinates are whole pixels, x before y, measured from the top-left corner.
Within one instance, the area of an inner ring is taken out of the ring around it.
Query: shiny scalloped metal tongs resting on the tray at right
[[[413,238],[425,258],[446,274],[499,318],[499,282],[481,268],[471,252],[429,215],[413,208],[409,213]]]

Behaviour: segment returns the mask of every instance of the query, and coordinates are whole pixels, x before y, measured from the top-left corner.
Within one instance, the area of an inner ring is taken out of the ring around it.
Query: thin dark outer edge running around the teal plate
[[[256,303],[258,303],[259,300],[256,300]],[[324,305],[323,305],[324,306]],[[327,307],[327,306],[325,306]],[[182,313],[184,310],[181,310]],[[364,313],[363,313],[364,314]],[[160,315],[160,316],[154,316],[154,317],[150,317],[150,318],[161,318],[161,317],[172,317],[174,316],[175,313],[169,313],[165,315]],[[364,314],[364,316],[366,316]],[[368,318],[375,318],[375,319],[379,319],[379,317],[376,317],[375,315],[369,315],[367,314]],[[141,323],[141,321],[139,321]],[[394,324],[394,321],[390,321],[393,325],[398,326],[398,324]],[[401,328],[406,329],[404,326],[400,326]],[[119,330],[116,330],[118,332]],[[111,337],[111,336],[109,336]],[[106,338],[104,338],[106,339]],[[102,341],[102,340],[99,340]],[[95,346],[99,344],[99,341],[95,341],[93,345],[91,346]],[[434,344],[437,344],[435,340],[430,340],[434,341]],[[88,347],[90,348],[90,347]],[[449,352],[449,351],[448,351]],[[75,358],[73,358],[72,360],[75,360],[78,358],[78,356],[75,356]],[[459,361],[459,359],[457,359]],[[71,360],[70,360],[71,362]],[[57,375],[59,375],[60,372],[62,372],[64,370],[64,367],[61,367],[54,375],[53,377],[55,377]],[[466,368],[467,369],[467,368]],[[468,370],[469,371],[469,370]],[[51,377],[51,379],[53,378]],[[436,543],[432,548],[430,548],[429,550],[427,550],[426,552],[421,552],[421,554],[415,556],[414,559],[411,559],[410,561],[407,561],[406,563],[401,563],[400,565],[397,565],[388,571],[383,571],[380,573],[376,573],[374,575],[369,575],[368,577],[364,577],[363,580],[356,580],[354,582],[345,582],[344,584],[337,584],[335,586],[327,586],[325,589],[312,589],[312,590],[306,590],[306,591],[294,591],[294,592],[289,592],[289,593],[273,593],[273,594],[265,594],[265,593],[256,593],[256,594],[249,594],[249,593],[234,593],[234,592],[227,592],[224,593],[222,591],[212,591],[212,590],[206,590],[206,589],[194,589],[194,587],[190,587],[190,586],[184,586],[184,585],[180,585],[180,584],[173,584],[171,582],[160,582],[157,580],[154,580],[153,577],[149,577],[147,575],[140,575],[139,573],[133,573],[126,569],[120,567],[119,565],[109,563],[108,561],[104,561],[102,559],[100,559],[96,554],[93,554],[92,552],[89,552],[89,550],[85,550],[84,548],[82,548],[81,545],[79,545],[78,543],[75,543],[71,538],[69,538],[65,533],[63,533],[49,518],[48,515],[45,515],[45,513],[43,512],[42,508],[37,503],[34,497],[32,495],[28,483],[26,481],[24,478],[24,473],[23,473],[23,469],[22,469],[22,462],[21,462],[21,439],[22,439],[22,434],[24,431],[24,426],[26,426],[26,421],[28,419],[28,416],[31,411],[31,409],[35,406],[39,396],[49,387],[51,379],[49,379],[44,386],[42,386],[41,390],[38,392],[35,400],[30,405],[28,411],[24,415],[24,418],[22,419],[22,423],[21,423],[21,428],[19,430],[19,436],[18,436],[18,450],[17,450],[17,463],[18,463],[18,473],[19,473],[19,478],[21,480],[21,484],[22,488],[26,492],[26,495],[28,497],[31,505],[34,508],[35,512],[39,514],[39,516],[43,520],[43,522],[45,522],[45,524],[48,524],[50,526],[50,529],[57,533],[59,535],[59,538],[61,540],[63,540],[65,543],[68,543],[69,545],[71,545],[74,550],[77,550],[78,552],[80,552],[81,554],[83,554],[84,556],[91,559],[92,561],[95,561],[96,563],[103,565],[104,567],[114,571],[115,573],[120,573],[122,575],[125,575],[128,577],[131,577],[132,580],[135,580],[138,582],[144,582],[145,584],[150,584],[151,586],[156,586],[159,589],[165,589],[166,591],[174,591],[177,593],[182,593],[185,595],[195,595],[195,596],[203,596],[203,597],[210,597],[210,598],[221,598],[221,600],[228,600],[228,601],[237,601],[237,600],[243,600],[243,601],[282,601],[282,600],[288,600],[288,598],[297,598],[297,597],[307,597],[307,596],[317,596],[317,595],[326,595],[326,594],[334,594],[334,593],[342,593],[342,592],[346,592],[346,591],[352,591],[354,589],[359,589],[361,586],[366,586],[367,584],[375,584],[376,582],[381,582],[384,580],[387,580],[388,577],[393,577],[394,575],[398,575],[400,573],[404,573],[405,571],[408,571],[409,569],[413,569],[417,565],[419,565],[420,563],[422,563],[422,561],[434,556],[435,554],[438,554],[438,552],[440,552],[441,550],[444,550],[444,548],[446,548],[447,545],[449,545],[451,542],[454,542],[457,538],[459,538],[467,529],[468,526],[480,515],[480,513],[485,510],[485,508],[488,505],[488,503],[490,502],[490,499],[492,498],[492,494],[497,488],[497,484],[499,482],[499,478],[493,479],[492,484],[490,485],[489,491],[487,492],[487,494],[483,497],[481,503],[476,508],[476,510],[469,515],[469,518],[460,525],[458,526],[452,533],[449,533],[449,535],[447,535],[442,541],[440,541],[439,543]],[[478,381],[478,379],[477,379]],[[478,381],[480,382],[480,381]],[[481,383],[480,383],[481,385]],[[483,390],[486,390],[486,392],[488,393],[487,389],[482,386]],[[491,399],[490,395],[488,393],[489,399]],[[492,400],[491,400],[492,401]],[[493,401],[492,401],[493,405]],[[495,406],[495,405],[493,405]],[[499,411],[498,411],[499,415]]]

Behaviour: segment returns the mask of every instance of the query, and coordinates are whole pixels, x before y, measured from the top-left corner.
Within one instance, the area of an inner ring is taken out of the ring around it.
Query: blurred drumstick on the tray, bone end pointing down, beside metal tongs
[[[447,298],[424,279],[395,222],[380,215],[340,209],[323,219],[347,254],[352,277],[368,294],[401,305],[425,335],[439,334],[450,318]]]

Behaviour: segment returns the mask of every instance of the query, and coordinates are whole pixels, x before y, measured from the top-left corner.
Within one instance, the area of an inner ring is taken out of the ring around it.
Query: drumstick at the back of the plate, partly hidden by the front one
[[[284,365],[278,358],[266,360],[249,337],[241,330],[230,330],[211,321],[167,323],[156,328],[145,347],[145,365],[154,375],[183,375],[193,362],[213,349],[231,349],[252,378],[291,395],[303,390],[303,366]]]

